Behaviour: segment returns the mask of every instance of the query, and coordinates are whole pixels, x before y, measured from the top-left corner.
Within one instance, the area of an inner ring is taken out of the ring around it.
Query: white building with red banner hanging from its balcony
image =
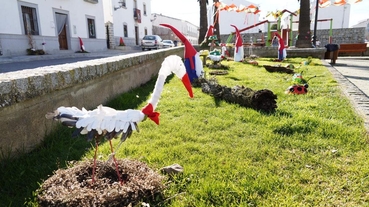
[[[140,46],[145,35],[152,35],[150,0],[103,0],[104,22],[113,23],[115,44],[120,38],[126,46]]]

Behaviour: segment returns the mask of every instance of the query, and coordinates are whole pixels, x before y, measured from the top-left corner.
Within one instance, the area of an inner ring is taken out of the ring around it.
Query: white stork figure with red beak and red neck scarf
[[[184,87],[186,87],[190,97],[192,98],[193,94],[190,80],[186,73],[186,68],[184,67],[182,59],[179,56],[171,55],[166,57],[163,61],[159,70],[159,76],[156,80],[154,91],[151,94],[148,104],[142,108],[142,110],[115,110],[100,105],[97,107],[97,109],[91,111],[86,110],[85,108],[79,110],[76,107],[62,106],[54,112],[49,112],[46,114],[46,118],[52,118],[54,120],[59,119],[64,126],[71,128],[76,127],[77,129],[72,133],[72,137],[76,137],[79,134],[87,134],[87,141],[91,141],[93,138],[95,138],[96,146],[94,165],[92,169],[92,183],[94,182],[97,145],[101,142],[102,138],[105,138],[106,140],[109,140],[112,152],[106,163],[111,159],[111,157],[113,157],[115,168],[117,169],[117,175],[120,183],[122,184],[117,162],[115,161],[114,157],[115,152],[113,152],[113,147],[111,145],[111,139],[123,133],[121,136],[121,143],[117,147],[118,149],[120,145],[131,136],[132,131],[136,130],[139,132],[137,124],[143,120],[146,120],[147,117],[159,125],[159,113],[154,112],[154,110],[158,105],[160,95],[163,91],[165,79],[171,73],[176,74],[176,76],[182,80]],[[117,149],[115,151],[117,151]]]

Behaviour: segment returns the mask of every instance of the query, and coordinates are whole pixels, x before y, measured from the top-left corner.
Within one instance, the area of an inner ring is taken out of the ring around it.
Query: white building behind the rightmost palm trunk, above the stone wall
[[[331,1],[334,3],[334,0]],[[310,3],[310,20],[315,19],[315,5],[316,1]],[[293,21],[299,21],[300,15],[297,14],[293,16]],[[342,6],[334,6],[330,5],[328,7],[319,8],[318,9],[318,20],[328,20],[333,19],[332,21],[332,29],[343,29],[349,28],[349,18],[350,18],[350,4],[345,4]],[[284,18],[284,28],[287,27],[287,24],[290,24],[290,16],[286,13],[286,18]],[[299,23],[292,24],[292,30],[297,31],[299,29]],[[331,21],[318,21],[317,29],[330,29]],[[310,24],[310,29],[314,30],[314,22]]]

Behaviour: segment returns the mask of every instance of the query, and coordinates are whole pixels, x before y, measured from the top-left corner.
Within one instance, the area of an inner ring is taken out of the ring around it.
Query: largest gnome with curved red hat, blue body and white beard
[[[194,80],[194,78],[199,78],[203,76],[203,64],[200,59],[200,54],[193,48],[191,43],[187,40],[187,38],[180,32],[178,29],[169,24],[160,24],[164,27],[168,27],[172,29],[174,34],[183,42],[184,45],[184,67],[186,67],[186,72],[190,79],[190,82]]]

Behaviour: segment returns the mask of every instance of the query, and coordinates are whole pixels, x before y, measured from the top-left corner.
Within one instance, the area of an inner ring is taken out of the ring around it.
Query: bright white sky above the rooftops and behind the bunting
[[[267,11],[287,9],[293,12],[300,8],[300,3],[297,2],[297,0],[249,0],[249,1],[255,4],[259,4],[259,10],[261,10],[261,12],[259,13],[260,14],[259,19],[265,17]],[[209,3],[210,2],[212,1],[209,0]],[[334,6],[331,5],[331,7]],[[321,8],[321,10],[319,11],[323,10],[324,8]],[[199,23],[200,7],[197,0],[151,0],[151,13],[157,13],[181,20],[186,20],[196,26],[199,26],[200,24]],[[358,21],[367,18],[369,18],[369,0],[363,0],[359,3],[351,4],[349,27],[357,24]]]

